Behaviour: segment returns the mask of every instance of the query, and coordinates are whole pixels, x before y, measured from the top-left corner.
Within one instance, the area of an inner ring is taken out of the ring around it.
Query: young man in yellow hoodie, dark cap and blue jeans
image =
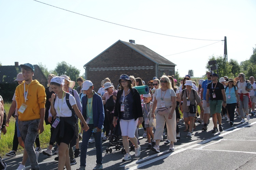
[[[38,133],[44,131],[45,88],[37,80],[32,80],[34,66],[26,63],[20,65],[25,81],[15,91],[19,129],[24,141],[24,152],[28,153],[31,169],[39,169],[34,142]]]

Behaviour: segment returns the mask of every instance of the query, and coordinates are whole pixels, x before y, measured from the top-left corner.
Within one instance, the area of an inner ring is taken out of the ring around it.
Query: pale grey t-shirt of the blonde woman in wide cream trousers
[[[178,91],[178,90],[177,90]],[[161,95],[162,93],[162,95]],[[157,108],[162,108],[161,101],[165,102],[165,107],[170,107],[172,105],[172,96],[176,97],[176,94],[173,89],[167,89],[166,94],[165,91],[161,91],[161,89],[156,89],[155,91],[155,97],[157,100]],[[163,97],[164,96],[164,97]],[[161,100],[163,98],[163,100]]]

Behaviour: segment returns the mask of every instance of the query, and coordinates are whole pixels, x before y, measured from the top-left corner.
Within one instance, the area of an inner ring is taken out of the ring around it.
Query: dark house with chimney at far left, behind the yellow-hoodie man
[[[33,66],[35,68],[33,80],[38,80],[40,84],[47,87],[47,79],[42,70],[38,65]],[[17,74],[21,72],[20,69],[21,67],[18,62],[15,62],[14,66],[0,66],[0,95],[3,97],[3,100],[12,100],[15,88],[18,86],[17,82],[14,82],[14,80]]]

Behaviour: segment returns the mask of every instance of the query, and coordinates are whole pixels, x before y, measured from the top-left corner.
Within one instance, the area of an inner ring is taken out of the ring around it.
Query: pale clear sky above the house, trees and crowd
[[[181,77],[189,69],[201,77],[209,56],[224,55],[224,41],[219,40],[225,36],[228,61],[249,59],[256,44],[255,0],[40,2],[0,1],[2,65],[42,63],[53,70],[66,61],[82,75],[83,66],[102,51],[119,39],[132,39],[176,64]]]

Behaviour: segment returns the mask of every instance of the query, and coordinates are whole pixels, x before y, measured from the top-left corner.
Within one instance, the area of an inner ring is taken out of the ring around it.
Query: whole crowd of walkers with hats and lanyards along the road
[[[76,164],[75,158],[80,156],[77,170],[85,170],[88,143],[95,143],[96,147],[97,165],[94,169],[103,169],[102,141],[113,140],[111,134],[117,125],[126,153],[122,160],[127,161],[131,160],[129,141],[134,146],[134,156],[140,156],[140,124],[148,142],[146,149],[159,153],[160,141],[165,135],[164,143],[169,144],[169,150],[175,150],[174,143],[181,140],[179,121],[184,121],[184,132],[190,137],[196,122],[203,125],[202,131],[207,131],[211,116],[212,132],[216,133],[223,131],[222,121],[225,119],[233,126],[235,114],[241,123],[249,121],[250,114],[255,115],[256,82],[254,77],[245,80],[243,73],[233,79],[219,78],[218,74],[207,71],[207,79],[199,80],[198,87],[190,75],[185,75],[179,87],[173,75],[143,81],[122,74],[118,80],[112,80],[118,82],[116,88],[109,78],[105,78],[96,92],[93,82],[84,81],[82,77],[77,78],[79,86],[74,89],[75,81],[67,75],[49,74],[48,86],[43,87],[37,80],[32,80],[33,65],[20,66],[22,73],[15,80],[19,85],[6,120],[2,120],[4,109],[0,97],[1,132],[6,133],[12,116],[16,120],[12,150],[6,156],[15,157],[18,145],[24,148],[23,160],[17,170],[25,170],[27,160],[32,170],[39,169],[38,156],[42,152],[39,137],[44,131],[44,122],[51,126],[51,137],[43,154],[52,156],[54,148],[54,153],[58,154],[55,157],[58,170],[64,167],[71,170],[71,165]],[[148,94],[140,94],[133,88],[145,84],[150,90]],[[5,168],[6,164],[0,158],[0,169]]]

